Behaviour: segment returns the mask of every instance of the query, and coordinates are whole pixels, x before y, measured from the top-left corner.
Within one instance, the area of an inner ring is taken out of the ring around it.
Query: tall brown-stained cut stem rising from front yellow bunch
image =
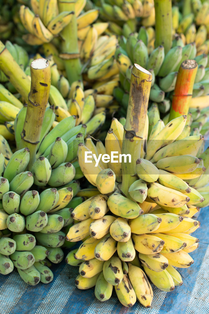
[[[140,158],[151,83],[152,74],[138,64],[134,64],[131,69],[129,101],[122,144],[122,154],[131,154],[131,163],[125,163],[123,158],[121,163],[122,183],[120,189],[127,197],[130,185],[137,180],[136,161]]]

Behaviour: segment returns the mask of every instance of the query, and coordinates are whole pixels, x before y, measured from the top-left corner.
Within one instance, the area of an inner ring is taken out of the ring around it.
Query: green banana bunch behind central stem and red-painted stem
[[[141,27],[138,33],[130,34],[127,39],[124,36],[120,37],[119,46],[115,51],[115,59],[120,71],[120,86],[116,87],[113,92],[116,100],[127,108],[131,68],[134,63],[137,63],[152,73],[149,100],[158,103],[160,112],[163,115],[166,114],[170,109],[181,63],[187,59],[195,59],[198,63],[198,70],[193,88],[193,106],[198,106],[200,103],[202,106],[206,106],[204,103],[208,105],[207,53],[209,50],[199,53],[199,46],[196,42],[186,43],[179,35],[176,35],[172,48],[165,55],[163,46],[154,47],[154,40],[154,29],[153,34],[150,34],[148,28],[144,27]],[[202,98],[199,98],[201,96]],[[196,97],[198,98],[195,99]]]

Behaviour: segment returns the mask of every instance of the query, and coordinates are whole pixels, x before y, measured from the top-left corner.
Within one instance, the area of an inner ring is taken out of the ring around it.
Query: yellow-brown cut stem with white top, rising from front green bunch
[[[30,150],[28,169],[31,169],[35,161],[35,154],[49,98],[51,68],[48,60],[44,58],[34,60],[30,64],[30,74],[31,86],[28,94],[28,106],[19,145],[19,149],[28,147]]]

